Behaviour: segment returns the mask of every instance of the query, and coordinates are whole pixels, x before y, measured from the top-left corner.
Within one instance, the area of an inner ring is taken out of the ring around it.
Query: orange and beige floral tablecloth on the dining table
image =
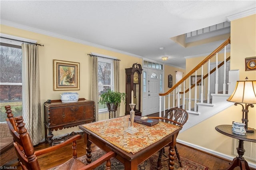
[[[139,123],[133,123],[139,132],[129,134],[125,132],[128,128],[128,119],[130,115],[108,119],[106,121],[98,121],[83,125],[83,127],[94,132],[104,140],[114,144],[118,148],[133,154],[161,140],[168,134],[181,128],[170,123],[159,122],[149,127]]]

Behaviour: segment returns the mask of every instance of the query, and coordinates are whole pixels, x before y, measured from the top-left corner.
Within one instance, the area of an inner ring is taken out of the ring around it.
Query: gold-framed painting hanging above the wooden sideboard
[[[54,59],[53,90],[80,90],[80,63]]]

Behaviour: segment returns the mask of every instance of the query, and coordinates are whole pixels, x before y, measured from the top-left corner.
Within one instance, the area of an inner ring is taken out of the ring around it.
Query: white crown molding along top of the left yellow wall
[[[98,44],[95,44],[95,43],[86,42],[86,41],[79,40],[79,39],[76,39],[76,38],[71,38],[71,37],[68,37],[68,36],[63,36],[63,35],[60,35],[60,34],[55,34],[55,33],[52,33],[52,32],[45,31],[45,30],[40,30],[38,28],[24,26],[22,24],[17,24],[15,22],[10,22],[10,21],[7,21],[7,20],[1,20],[1,24],[6,25],[6,26],[10,26],[10,27],[14,27],[14,28],[18,28],[18,29],[22,29],[22,30],[26,30],[26,31],[30,31],[30,32],[35,32],[35,33],[38,33],[38,34],[43,34],[43,35],[54,37],[54,38],[60,38],[62,40],[67,40],[67,41],[70,41],[70,42],[75,42],[75,43],[80,43],[80,44],[84,44],[84,45],[89,45],[89,46],[92,46],[92,47],[106,49],[108,51],[113,51],[113,52],[121,53],[121,54],[124,54],[124,55],[130,55],[130,56],[133,56],[133,57],[143,58],[140,55],[128,53],[128,52],[125,52],[125,51],[121,51],[121,50],[118,50],[118,49],[106,47],[106,46],[103,46],[103,45],[98,45]]]

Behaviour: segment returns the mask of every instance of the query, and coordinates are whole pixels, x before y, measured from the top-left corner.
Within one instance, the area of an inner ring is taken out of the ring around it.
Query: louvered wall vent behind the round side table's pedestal
[[[236,148],[238,147],[239,140],[234,139],[233,155],[238,156]],[[256,143],[244,141],[244,158],[256,162]]]

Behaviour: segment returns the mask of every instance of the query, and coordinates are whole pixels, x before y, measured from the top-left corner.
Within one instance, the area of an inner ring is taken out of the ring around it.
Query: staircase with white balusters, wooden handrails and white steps
[[[226,45],[229,43],[230,38],[222,43],[196,67],[194,67],[194,69],[192,69],[180,81],[178,81],[178,83],[170,88],[169,91],[159,94],[159,113],[161,113],[162,110],[165,111],[170,109],[171,105],[172,107],[182,107],[182,109],[185,109],[189,113],[188,121],[183,126],[182,131],[193,127],[209,117],[216,115],[220,111],[234,105],[234,103],[226,101],[226,99],[228,99],[233,92],[236,81],[238,80],[238,71],[236,70],[231,71],[229,82],[226,82],[226,62],[230,60],[230,57],[226,58]],[[224,49],[224,59],[223,61],[220,61],[220,59],[218,59],[218,53],[222,49]],[[212,58],[216,62],[216,67],[210,70],[210,59]],[[204,69],[204,67],[207,68],[207,71]],[[223,77],[218,77],[218,71],[220,71],[220,69],[224,69]],[[212,75],[213,73],[215,73],[215,92],[210,93],[210,81],[212,80],[210,79],[209,75]],[[200,77],[197,76],[198,74],[200,74]],[[198,80],[193,85],[191,82],[191,77]],[[220,79],[223,79],[221,80],[223,81],[223,85],[218,85],[218,81],[220,81]],[[226,85],[228,85],[228,89],[226,89]],[[185,87],[189,88],[185,89]],[[219,87],[221,87],[221,89],[218,89]],[[164,115],[160,114],[159,116],[163,117]]]

